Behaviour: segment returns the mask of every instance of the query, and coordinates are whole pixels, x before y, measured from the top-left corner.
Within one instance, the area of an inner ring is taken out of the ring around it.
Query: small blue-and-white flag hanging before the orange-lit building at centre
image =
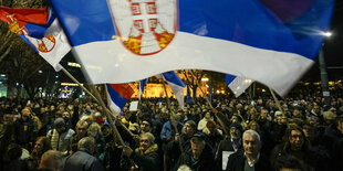
[[[183,79],[174,72],[167,72],[167,73],[163,73],[162,74],[164,79],[167,81],[169,87],[172,88],[175,98],[178,101],[178,105],[180,107],[185,106],[185,95],[184,95],[184,88],[185,88],[185,83],[183,82]]]

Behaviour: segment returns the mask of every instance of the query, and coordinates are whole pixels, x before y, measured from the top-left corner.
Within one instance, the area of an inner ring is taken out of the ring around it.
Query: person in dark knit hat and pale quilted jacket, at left
[[[63,118],[56,118],[54,121],[54,129],[48,131],[46,137],[50,139],[53,150],[58,150],[66,154],[70,139],[75,131],[65,128],[65,121]]]

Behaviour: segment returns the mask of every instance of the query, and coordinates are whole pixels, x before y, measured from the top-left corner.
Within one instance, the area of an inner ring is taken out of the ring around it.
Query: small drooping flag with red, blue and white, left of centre
[[[107,104],[114,114],[119,114],[134,94],[128,84],[106,84]]]

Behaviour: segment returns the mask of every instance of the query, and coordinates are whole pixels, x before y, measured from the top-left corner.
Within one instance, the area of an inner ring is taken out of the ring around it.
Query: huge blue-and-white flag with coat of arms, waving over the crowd
[[[258,81],[280,95],[314,63],[334,6],[334,0],[51,2],[95,84],[201,68]]]

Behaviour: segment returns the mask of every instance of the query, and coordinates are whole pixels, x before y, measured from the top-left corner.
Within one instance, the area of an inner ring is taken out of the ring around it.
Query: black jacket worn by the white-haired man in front
[[[227,171],[243,171],[245,170],[245,162],[247,158],[245,157],[245,150],[239,150],[232,153],[229,157],[229,161],[227,164]],[[270,164],[269,160],[264,154],[260,153],[260,158],[257,163],[254,163],[256,171],[269,171]]]

